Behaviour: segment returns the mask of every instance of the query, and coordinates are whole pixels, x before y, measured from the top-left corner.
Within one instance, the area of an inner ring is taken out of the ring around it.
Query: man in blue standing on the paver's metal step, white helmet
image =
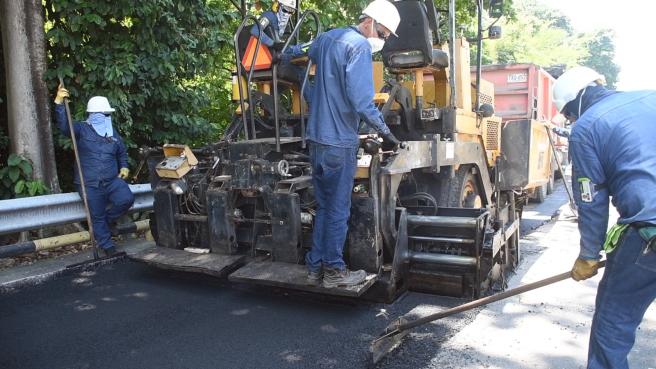
[[[387,141],[400,144],[373,103],[372,64],[372,53],[382,49],[385,39],[395,36],[399,22],[392,3],[375,0],[362,11],[359,25],[322,33],[308,51],[316,65],[310,91],[304,92],[310,104],[307,140],[317,200],[313,244],[305,258],[312,285],[354,286],[366,278],[363,270],[350,271],[343,259],[358,125],[362,120]],[[289,55],[302,53],[303,47],[291,48]]]

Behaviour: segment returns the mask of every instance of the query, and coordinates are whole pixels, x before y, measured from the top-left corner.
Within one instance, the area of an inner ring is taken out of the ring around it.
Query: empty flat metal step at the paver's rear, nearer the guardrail
[[[225,277],[244,264],[243,255],[196,254],[155,246],[129,256],[157,268]]]

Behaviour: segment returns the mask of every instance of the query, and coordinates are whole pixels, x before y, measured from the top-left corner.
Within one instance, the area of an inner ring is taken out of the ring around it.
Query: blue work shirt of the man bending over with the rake
[[[592,105],[569,138],[583,259],[598,259],[609,197],[619,223],[656,224],[656,91],[621,92]],[[590,191],[581,183],[590,181]],[[588,192],[589,196],[586,196]]]

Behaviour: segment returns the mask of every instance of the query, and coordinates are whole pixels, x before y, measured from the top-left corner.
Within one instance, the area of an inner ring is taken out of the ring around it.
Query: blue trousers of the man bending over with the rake
[[[631,227],[607,260],[592,319],[588,369],[628,369],[636,329],[656,298],[656,251]]]

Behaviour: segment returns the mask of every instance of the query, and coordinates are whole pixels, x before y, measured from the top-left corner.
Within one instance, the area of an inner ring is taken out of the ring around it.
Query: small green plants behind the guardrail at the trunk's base
[[[0,168],[0,199],[45,195],[48,188],[42,181],[32,180],[32,163],[16,154],[9,155],[7,166]]]

